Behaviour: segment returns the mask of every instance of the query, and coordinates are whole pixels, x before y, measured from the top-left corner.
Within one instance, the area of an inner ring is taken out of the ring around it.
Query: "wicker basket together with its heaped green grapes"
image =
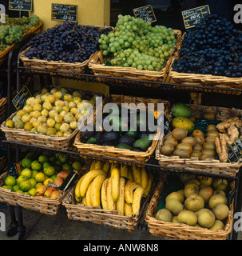
[[[181,31],[119,15],[115,31],[102,34],[98,42],[101,50],[89,62],[94,74],[161,81],[174,49],[180,49]]]

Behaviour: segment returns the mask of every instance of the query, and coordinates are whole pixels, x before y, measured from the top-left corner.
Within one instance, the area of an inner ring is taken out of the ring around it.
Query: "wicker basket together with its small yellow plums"
[[[10,141],[65,150],[77,134],[78,122],[95,107],[95,94],[71,88],[44,88],[2,123]]]

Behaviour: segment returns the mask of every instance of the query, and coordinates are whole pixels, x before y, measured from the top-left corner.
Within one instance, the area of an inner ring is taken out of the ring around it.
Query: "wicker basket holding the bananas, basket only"
[[[119,210],[103,210],[101,207],[84,206],[80,203],[76,204],[74,198],[74,187],[66,195],[62,205],[65,206],[67,216],[71,220],[93,222],[95,224],[112,226],[120,230],[128,230],[129,232],[133,232],[145,214],[145,208],[152,196],[153,189],[154,187],[146,197],[146,200],[143,203],[141,211],[137,217],[133,217],[132,215],[123,216],[120,214]]]

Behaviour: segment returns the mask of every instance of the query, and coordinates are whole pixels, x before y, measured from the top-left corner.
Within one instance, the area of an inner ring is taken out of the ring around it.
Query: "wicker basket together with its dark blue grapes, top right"
[[[170,76],[176,83],[241,88],[242,32],[217,14],[184,34]]]

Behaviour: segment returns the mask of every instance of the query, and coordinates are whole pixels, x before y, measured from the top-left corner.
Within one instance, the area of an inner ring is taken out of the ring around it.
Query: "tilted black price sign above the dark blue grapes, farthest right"
[[[200,20],[210,14],[209,6],[200,6],[190,10],[184,10],[181,12],[184,21],[184,27],[189,29],[200,23]]]

